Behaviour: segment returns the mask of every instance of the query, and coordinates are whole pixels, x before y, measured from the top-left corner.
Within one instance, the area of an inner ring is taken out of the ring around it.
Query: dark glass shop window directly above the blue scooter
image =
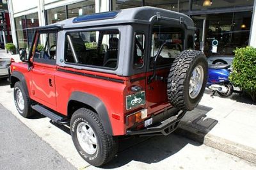
[[[207,56],[233,55],[233,50],[236,47],[248,45],[252,12],[217,13],[197,15],[192,16],[192,18],[197,28],[195,48],[198,50],[202,49],[202,20],[205,19],[205,40],[203,45]],[[216,51],[212,50],[212,41],[218,42]]]

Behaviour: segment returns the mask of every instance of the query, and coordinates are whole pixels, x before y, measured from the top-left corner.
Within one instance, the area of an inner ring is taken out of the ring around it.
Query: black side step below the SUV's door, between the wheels
[[[68,118],[64,118],[59,116],[58,114],[50,111],[49,109],[46,109],[45,107],[43,107],[42,105],[31,105],[32,109],[34,109],[35,111],[40,112],[40,114],[43,114],[44,116],[50,118],[52,121],[61,124],[61,125],[68,125],[70,124],[70,120]]]

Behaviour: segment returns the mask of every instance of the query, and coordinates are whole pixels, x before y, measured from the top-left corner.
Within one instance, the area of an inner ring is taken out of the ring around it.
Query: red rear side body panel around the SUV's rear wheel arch
[[[62,70],[60,70],[62,69]],[[69,70],[71,72],[65,72]],[[92,77],[88,76],[92,75]],[[93,77],[98,75],[101,77]],[[103,79],[108,77],[116,79],[116,81],[108,81]],[[119,80],[119,82],[117,82]],[[85,70],[75,70],[72,68],[58,67],[55,75],[56,83],[56,101],[57,110],[62,114],[68,114],[68,102],[74,100],[72,94],[80,92],[90,94],[98,98],[106,107],[109,121],[111,123],[113,135],[123,135],[124,132],[124,89],[125,78],[117,75],[109,75],[107,73],[95,73]],[[84,101],[84,104],[90,106],[90,103],[95,101]],[[97,109],[95,109],[97,111]],[[102,113],[100,113],[102,114]],[[103,116],[106,118],[106,116]],[[108,120],[102,120],[108,121]]]

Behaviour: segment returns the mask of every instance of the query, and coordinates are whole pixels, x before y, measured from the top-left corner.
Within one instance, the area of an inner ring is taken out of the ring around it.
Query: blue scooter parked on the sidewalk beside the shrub
[[[220,97],[230,97],[234,92],[233,85],[228,81],[230,65],[209,65],[206,87],[212,90],[211,97],[217,92]]]

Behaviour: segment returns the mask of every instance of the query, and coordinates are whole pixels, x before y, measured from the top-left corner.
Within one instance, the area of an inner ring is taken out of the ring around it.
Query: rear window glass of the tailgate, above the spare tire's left
[[[171,27],[156,23],[152,30],[152,43],[150,49],[151,60],[156,56],[163,43],[165,43],[165,45],[157,59],[157,66],[163,66],[170,63],[184,49],[183,30],[179,27]],[[150,66],[152,67],[152,64]]]

